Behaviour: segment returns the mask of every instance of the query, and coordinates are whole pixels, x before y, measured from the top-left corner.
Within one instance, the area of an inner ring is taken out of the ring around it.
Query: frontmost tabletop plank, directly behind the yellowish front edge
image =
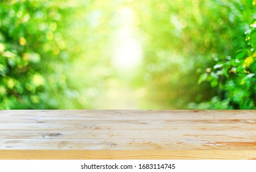
[[[255,141],[210,139],[0,139],[0,149],[81,150],[256,150]]]

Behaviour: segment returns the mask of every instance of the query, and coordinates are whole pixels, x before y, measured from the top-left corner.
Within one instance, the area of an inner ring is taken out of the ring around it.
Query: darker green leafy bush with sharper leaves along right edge
[[[223,41],[225,50],[214,53],[208,64],[208,72],[199,77],[199,83],[210,82],[218,94],[212,100],[191,104],[203,109],[255,109],[255,1],[226,3],[230,29],[226,29]],[[229,34],[232,36],[227,39]]]

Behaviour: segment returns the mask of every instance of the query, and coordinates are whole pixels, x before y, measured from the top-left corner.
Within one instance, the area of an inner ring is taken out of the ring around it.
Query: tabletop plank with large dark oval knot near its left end
[[[148,130],[95,130],[91,131],[91,128],[85,128],[83,131],[78,130],[12,130],[11,132],[6,130],[0,130],[1,139],[46,139],[46,138],[58,138],[58,139],[199,139],[199,140],[208,140],[208,141],[247,141],[247,142],[256,142],[256,133],[251,130],[248,131],[247,135],[244,135],[244,131],[223,131],[215,130],[209,133],[209,131],[186,131],[181,130],[179,133],[168,132],[164,129],[159,129],[155,131]]]

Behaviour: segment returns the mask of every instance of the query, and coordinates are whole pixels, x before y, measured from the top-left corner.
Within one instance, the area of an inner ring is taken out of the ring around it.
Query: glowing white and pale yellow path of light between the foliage
[[[140,109],[144,90],[134,88],[134,77],[141,66],[142,48],[138,37],[133,9],[124,6],[118,10],[119,29],[114,35],[111,61],[114,76],[105,82],[106,91],[96,101],[101,109]],[[97,108],[97,107],[94,107]]]

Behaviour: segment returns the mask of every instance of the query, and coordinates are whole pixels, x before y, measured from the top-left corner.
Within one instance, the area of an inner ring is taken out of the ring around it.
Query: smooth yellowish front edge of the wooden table
[[[42,151],[0,150],[4,160],[256,160],[256,151],[149,150],[149,151]]]

